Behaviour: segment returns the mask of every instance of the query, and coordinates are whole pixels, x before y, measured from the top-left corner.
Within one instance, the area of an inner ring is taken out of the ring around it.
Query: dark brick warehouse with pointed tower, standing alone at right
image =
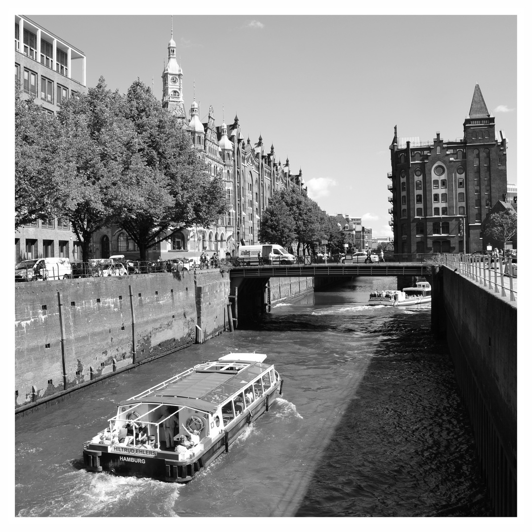
[[[453,253],[486,248],[481,223],[506,194],[506,138],[495,129],[478,84],[462,139],[398,138],[390,145],[395,253]]]

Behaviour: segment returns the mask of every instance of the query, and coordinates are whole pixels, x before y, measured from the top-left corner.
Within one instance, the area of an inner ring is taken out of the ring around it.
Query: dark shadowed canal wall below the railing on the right
[[[517,512],[517,304],[443,267],[449,351],[497,516]],[[434,312],[434,308],[432,309]]]

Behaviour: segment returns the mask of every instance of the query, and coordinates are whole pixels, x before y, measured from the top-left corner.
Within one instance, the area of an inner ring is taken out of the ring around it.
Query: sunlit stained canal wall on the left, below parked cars
[[[176,272],[15,286],[15,412],[224,328],[227,273]]]

